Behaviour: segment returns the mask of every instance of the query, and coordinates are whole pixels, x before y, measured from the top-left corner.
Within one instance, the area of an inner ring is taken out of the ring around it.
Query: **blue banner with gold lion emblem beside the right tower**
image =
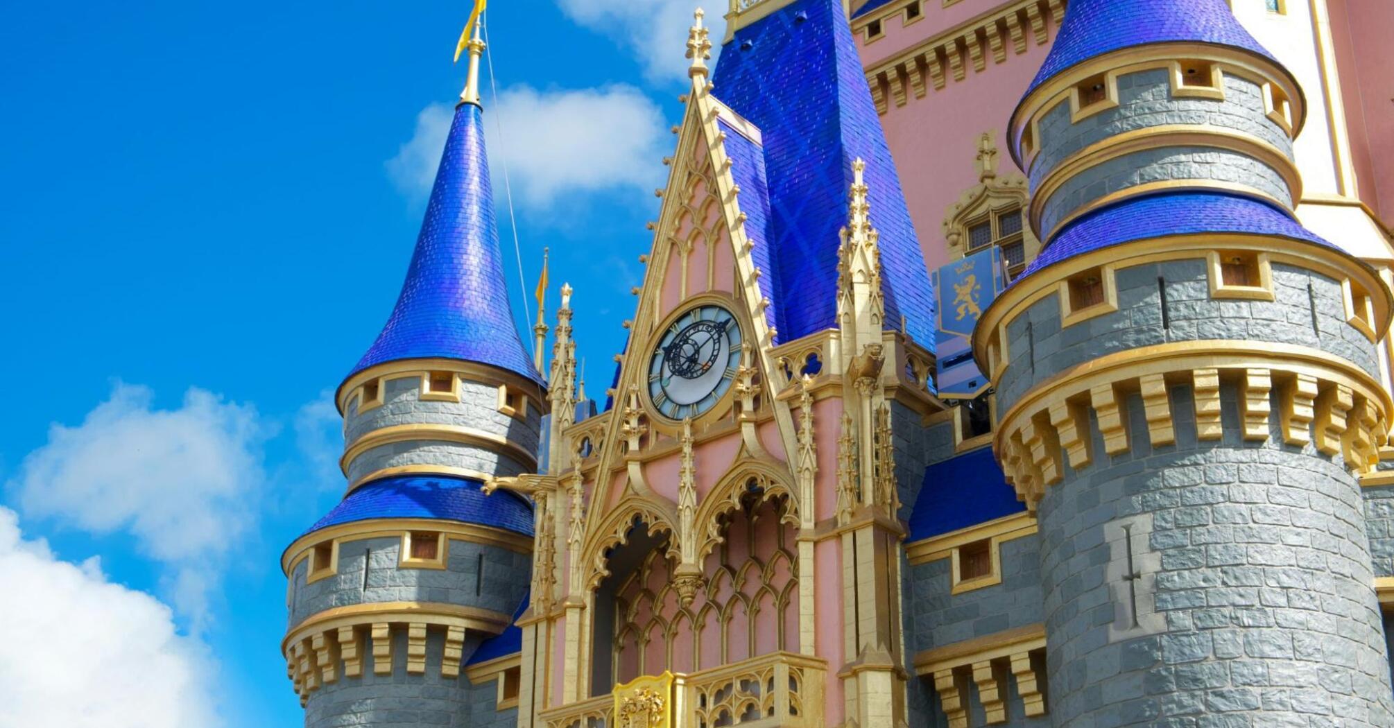
[[[938,392],[944,399],[973,399],[991,384],[973,361],[973,326],[1005,287],[997,245],[934,272],[938,296]]]

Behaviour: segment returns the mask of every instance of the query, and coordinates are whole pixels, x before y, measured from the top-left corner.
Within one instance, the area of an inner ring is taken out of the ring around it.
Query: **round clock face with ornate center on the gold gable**
[[[648,363],[648,396],[671,420],[697,417],[730,389],[740,365],[740,325],[719,305],[673,321]]]

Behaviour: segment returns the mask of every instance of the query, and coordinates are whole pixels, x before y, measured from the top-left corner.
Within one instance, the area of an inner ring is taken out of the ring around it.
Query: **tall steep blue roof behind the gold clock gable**
[[[881,233],[887,325],[899,328],[905,317],[914,340],[933,349],[928,271],[841,0],[799,0],[736,31],[712,84],[761,131],[775,340],[836,325],[838,230],[848,220],[852,162],[861,158]],[[744,211],[744,187],[740,204]]]

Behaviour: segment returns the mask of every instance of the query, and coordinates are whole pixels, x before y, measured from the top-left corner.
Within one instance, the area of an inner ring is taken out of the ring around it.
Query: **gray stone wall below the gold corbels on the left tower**
[[[459,678],[441,676],[443,635],[427,637],[427,671],[407,674],[406,632],[393,630],[392,675],[372,672],[372,654],[364,657],[361,678],[340,676],[309,695],[305,728],[513,728],[517,708],[496,710],[493,681],[471,685],[463,669]],[[466,655],[474,644],[466,644]],[[340,662],[340,671],[343,664]],[[340,672],[342,675],[342,672]]]

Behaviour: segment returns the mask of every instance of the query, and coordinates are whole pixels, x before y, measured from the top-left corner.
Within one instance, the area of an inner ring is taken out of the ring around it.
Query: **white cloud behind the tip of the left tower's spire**
[[[422,109],[415,134],[388,160],[393,183],[414,199],[431,191],[450,113],[445,105]],[[651,192],[666,173],[661,159],[672,141],[664,114],[633,86],[537,91],[519,85],[500,92],[485,114],[499,205],[505,160],[514,202],[530,212],[594,192]]]

